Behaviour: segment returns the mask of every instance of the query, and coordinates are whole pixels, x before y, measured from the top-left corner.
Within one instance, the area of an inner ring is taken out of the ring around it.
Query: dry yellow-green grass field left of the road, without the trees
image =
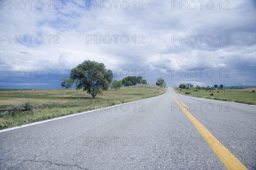
[[[1,109],[15,108],[24,102],[34,106],[33,114],[21,112],[10,116],[2,111],[0,129],[158,96],[164,94],[166,89],[153,85],[136,85],[116,91],[103,91],[103,95],[96,96],[95,99],[76,89],[0,91]]]

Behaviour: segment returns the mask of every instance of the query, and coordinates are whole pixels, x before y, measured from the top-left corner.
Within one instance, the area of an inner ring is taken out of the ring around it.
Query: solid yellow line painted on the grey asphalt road
[[[177,99],[173,96],[172,98],[179,105]],[[183,105],[184,103],[182,103]],[[186,106],[186,105],[185,105]],[[223,164],[227,167],[228,170],[247,170],[247,168],[235,157],[226,147],[221,144],[213,135],[210,133],[194,116],[192,116],[189,111],[185,107],[180,107],[182,111],[186,114],[192,124],[196,127],[199,133],[204,137],[207,144],[212,148],[212,150],[216,153],[219,159],[223,162]]]

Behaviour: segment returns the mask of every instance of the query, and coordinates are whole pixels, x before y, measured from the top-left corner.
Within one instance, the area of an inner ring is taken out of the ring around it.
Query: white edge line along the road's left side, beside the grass
[[[166,92],[167,92],[167,90],[168,89],[166,89]],[[164,94],[166,94],[166,92]],[[158,96],[162,96],[164,94],[161,94],[161,95],[158,95]],[[158,96],[154,96],[154,97],[158,97]],[[146,99],[151,99],[151,98],[154,98],[154,97],[149,97],[149,98],[146,98]],[[138,102],[138,101],[141,101],[141,100],[145,100],[145,99],[135,100],[135,101],[132,101],[132,102]],[[124,104],[132,103],[132,102],[122,103],[122,104],[113,105],[113,106],[124,105]],[[113,106],[108,106],[106,108],[111,108]],[[43,121],[39,121],[39,122],[29,123],[29,124],[26,124],[26,125],[20,125],[20,126],[16,126],[16,127],[11,127],[11,128],[0,130],[0,133],[6,132],[6,131],[9,131],[9,130],[19,129],[19,128],[22,128],[22,127],[27,127],[27,126],[37,125],[37,124],[41,124],[41,123],[45,123],[45,122],[50,122],[50,121],[53,121],[53,120],[63,119],[63,118],[67,118],[67,117],[70,117],[70,116],[77,116],[77,115],[84,114],[84,113],[90,113],[90,112],[93,112],[93,111],[99,111],[99,110],[106,109],[106,108],[99,108],[99,109],[94,109],[94,110],[91,110],[91,111],[85,111],[85,112],[81,112],[81,113],[74,113],[74,114],[70,114],[70,115],[67,115],[67,116],[61,116],[61,117],[47,119],[47,120],[43,120]]]

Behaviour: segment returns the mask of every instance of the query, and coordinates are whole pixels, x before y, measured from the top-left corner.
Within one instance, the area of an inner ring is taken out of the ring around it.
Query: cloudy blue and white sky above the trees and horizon
[[[255,2],[1,0],[0,88],[60,89],[88,59],[117,80],[255,86]]]

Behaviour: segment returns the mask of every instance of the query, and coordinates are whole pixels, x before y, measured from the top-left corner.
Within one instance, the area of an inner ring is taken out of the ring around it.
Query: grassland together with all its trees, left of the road
[[[157,82],[149,85],[141,76],[113,80],[103,63],[85,60],[71,70],[69,78],[61,79],[65,89],[0,89],[0,129],[164,94],[166,83]],[[73,84],[76,89],[69,89]]]

